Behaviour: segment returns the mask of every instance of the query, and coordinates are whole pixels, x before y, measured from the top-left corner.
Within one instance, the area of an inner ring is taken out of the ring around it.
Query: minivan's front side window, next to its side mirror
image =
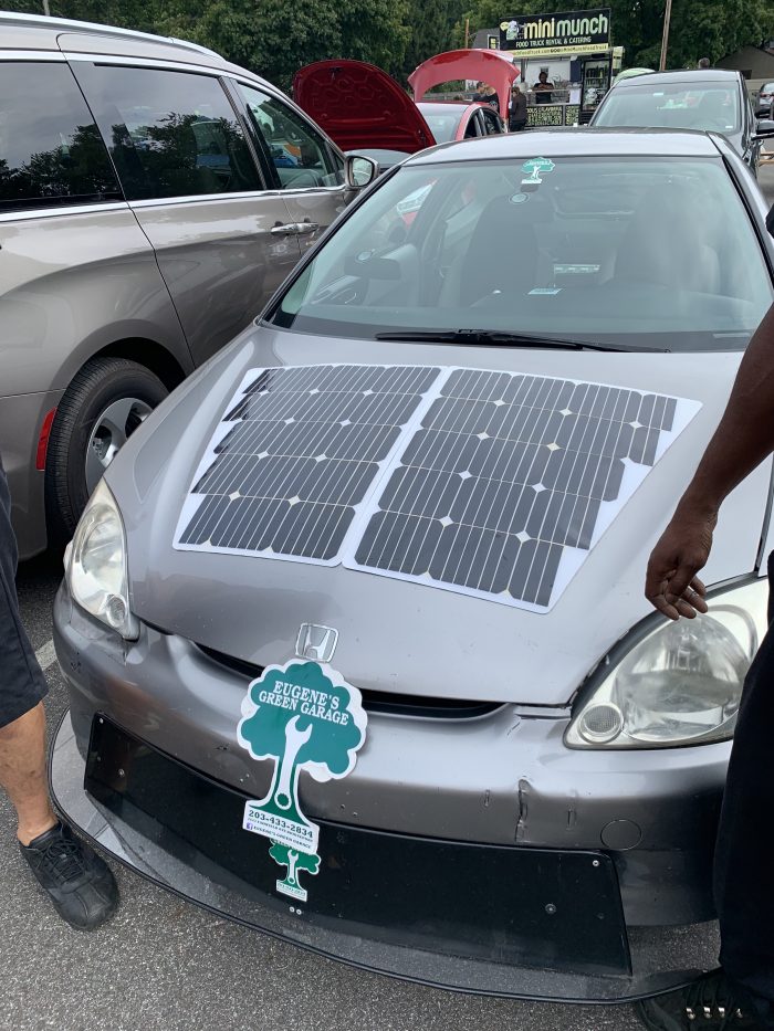
[[[292,107],[251,86],[239,85],[255,130],[265,143],[282,189],[336,187],[344,181],[343,165],[322,134]]]

